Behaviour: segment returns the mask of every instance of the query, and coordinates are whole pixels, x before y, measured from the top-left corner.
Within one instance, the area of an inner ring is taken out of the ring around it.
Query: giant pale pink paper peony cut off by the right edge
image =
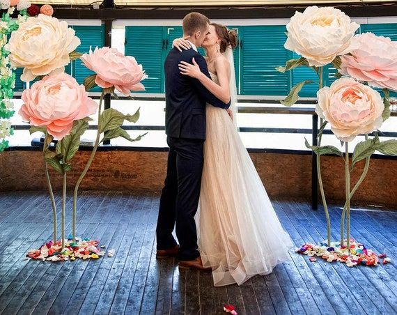
[[[352,43],[358,48],[352,50],[352,56],[341,56],[341,74],[397,91],[397,42],[363,33],[356,35]]]

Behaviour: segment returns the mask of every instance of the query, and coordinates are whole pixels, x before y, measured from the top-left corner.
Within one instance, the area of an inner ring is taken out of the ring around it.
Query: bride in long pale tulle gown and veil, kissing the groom
[[[187,38],[174,40],[178,49],[190,47]],[[235,103],[233,51],[235,31],[211,23],[203,42],[212,80],[192,60],[180,71],[199,79],[220,100]],[[229,113],[230,114],[230,113]],[[289,259],[293,246],[283,230],[237,128],[226,110],[206,106],[204,166],[196,225],[204,267],[212,268],[215,286],[242,284],[266,275]],[[231,114],[233,116],[233,114]]]

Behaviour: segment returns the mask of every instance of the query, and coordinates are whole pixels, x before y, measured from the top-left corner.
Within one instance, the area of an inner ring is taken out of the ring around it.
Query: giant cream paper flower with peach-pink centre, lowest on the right
[[[316,113],[331,125],[341,141],[352,141],[382,125],[380,93],[352,78],[341,78],[317,92]]]

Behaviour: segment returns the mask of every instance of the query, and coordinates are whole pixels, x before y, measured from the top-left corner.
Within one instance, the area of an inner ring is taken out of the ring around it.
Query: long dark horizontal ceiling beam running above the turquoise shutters
[[[371,3],[335,5],[350,17],[397,16],[396,3]],[[54,17],[81,20],[181,20],[192,11],[203,13],[210,19],[266,19],[289,18],[296,10],[303,11],[306,6],[258,6],[258,7],[212,7],[212,8],[65,8],[56,7]]]

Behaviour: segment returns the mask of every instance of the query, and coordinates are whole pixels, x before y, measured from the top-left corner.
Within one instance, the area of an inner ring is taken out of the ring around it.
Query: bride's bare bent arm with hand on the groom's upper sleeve
[[[193,59],[193,65],[185,61],[181,61],[179,64],[180,73],[182,75],[188,75],[189,77],[194,77],[198,79],[203,86],[205,86],[208,91],[214,94],[222,102],[229,102],[231,100],[231,92],[229,87],[229,77],[230,77],[230,65],[228,61],[224,58],[218,58],[215,60],[215,70],[217,70],[217,77],[219,80],[219,85],[212,81],[209,77],[200,71],[200,67]]]

